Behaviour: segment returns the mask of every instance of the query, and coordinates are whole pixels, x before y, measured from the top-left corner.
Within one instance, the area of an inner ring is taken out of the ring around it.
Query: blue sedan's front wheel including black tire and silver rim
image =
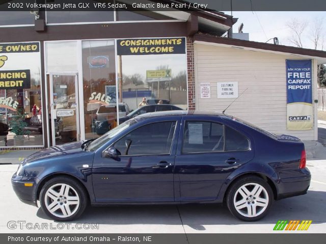
[[[71,221],[83,214],[88,197],[77,180],[58,176],[50,179],[43,186],[40,203],[45,214],[51,219]]]

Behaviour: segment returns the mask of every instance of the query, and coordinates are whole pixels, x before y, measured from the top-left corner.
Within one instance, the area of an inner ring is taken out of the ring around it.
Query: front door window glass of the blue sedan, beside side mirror
[[[170,154],[175,121],[142,126],[118,140],[114,147],[121,155]]]

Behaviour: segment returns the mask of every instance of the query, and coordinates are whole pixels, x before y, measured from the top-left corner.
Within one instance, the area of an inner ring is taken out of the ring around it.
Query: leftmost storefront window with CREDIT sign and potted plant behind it
[[[40,44],[0,44],[0,146],[42,146]]]

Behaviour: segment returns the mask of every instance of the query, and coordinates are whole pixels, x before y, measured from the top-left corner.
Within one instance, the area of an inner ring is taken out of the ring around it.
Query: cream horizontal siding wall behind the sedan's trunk
[[[270,132],[316,140],[314,130],[286,130],[285,59],[298,59],[297,56],[203,44],[195,44],[194,52],[196,109],[222,112],[234,99],[218,99],[217,82],[237,81],[239,95],[248,89],[226,113]],[[200,98],[200,83],[210,83],[210,99]],[[313,83],[313,89],[314,86]]]

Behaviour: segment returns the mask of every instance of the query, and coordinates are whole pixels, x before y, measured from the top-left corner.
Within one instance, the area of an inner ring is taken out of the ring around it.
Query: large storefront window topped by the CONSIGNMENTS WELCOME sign
[[[129,110],[158,103],[187,108],[184,38],[121,39],[117,50],[120,103]],[[170,107],[164,106],[164,110],[172,110]],[[162,111],[161,108],[148,111]]]

